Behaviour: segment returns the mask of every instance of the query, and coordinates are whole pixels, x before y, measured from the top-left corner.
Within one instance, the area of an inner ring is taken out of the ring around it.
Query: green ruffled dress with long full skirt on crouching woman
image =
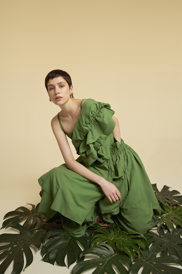
[[[122,205],[120,200],[111,204],[98,184],[66,164],[38,179],[42,199],[37,214],[49,219],[58,211],[63,228],[73,237],[84,235],[86,225],[93,225],[99,214],[107,223],[112,224],[114,217],[124,230],[145,234],[162,211],[138,154],[114,138],[113,114],[108,103],[86,99],[74,131],[65,134],[80,155],[76,161],[114,184],[121,192]]]

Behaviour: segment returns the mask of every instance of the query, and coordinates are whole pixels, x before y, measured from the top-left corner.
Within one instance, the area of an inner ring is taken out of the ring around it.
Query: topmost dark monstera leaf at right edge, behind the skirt
[[[157,189],[156,184],[152,184],[152,187],[155,192],[157,200],[161,202],[162,204],[166,204],[166,203],[168,203],[169,205],[174,203],[178,205],[182,204],[182,196],[181,195],[174,196],[174,195],[180,194],[180,192],[178,192],[177,190],[169,191],[168,190],[169,186],[164,186],[160,192]]]

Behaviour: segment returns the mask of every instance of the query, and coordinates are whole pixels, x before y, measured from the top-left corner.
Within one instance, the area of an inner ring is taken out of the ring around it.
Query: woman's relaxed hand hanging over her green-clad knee
[[[117,187],[113,185],[111,182],[104,180],[99,185],[102,188],[102,191],[104,192],[106,197],[109,199],[109,202],[111,202],[111,204],[113,202],[121,200],[121,193],[119,192]]]

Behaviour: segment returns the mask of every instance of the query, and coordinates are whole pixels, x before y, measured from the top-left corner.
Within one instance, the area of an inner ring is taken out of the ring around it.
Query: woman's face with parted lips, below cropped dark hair
[[[49,79],[47,88],[52,102],[58,106],[67,102],[73,91],[73,86],[69,88],[67,81],[61,76]]]

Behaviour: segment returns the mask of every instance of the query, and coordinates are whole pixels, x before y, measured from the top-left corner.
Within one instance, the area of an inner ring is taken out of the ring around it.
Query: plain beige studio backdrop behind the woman
[[[75,98],[111,105],[152,184],[181,191],[180,19],[180,0],[1,0],[2,216],[40,202],[38,178],[64,163],[53,69]]]

